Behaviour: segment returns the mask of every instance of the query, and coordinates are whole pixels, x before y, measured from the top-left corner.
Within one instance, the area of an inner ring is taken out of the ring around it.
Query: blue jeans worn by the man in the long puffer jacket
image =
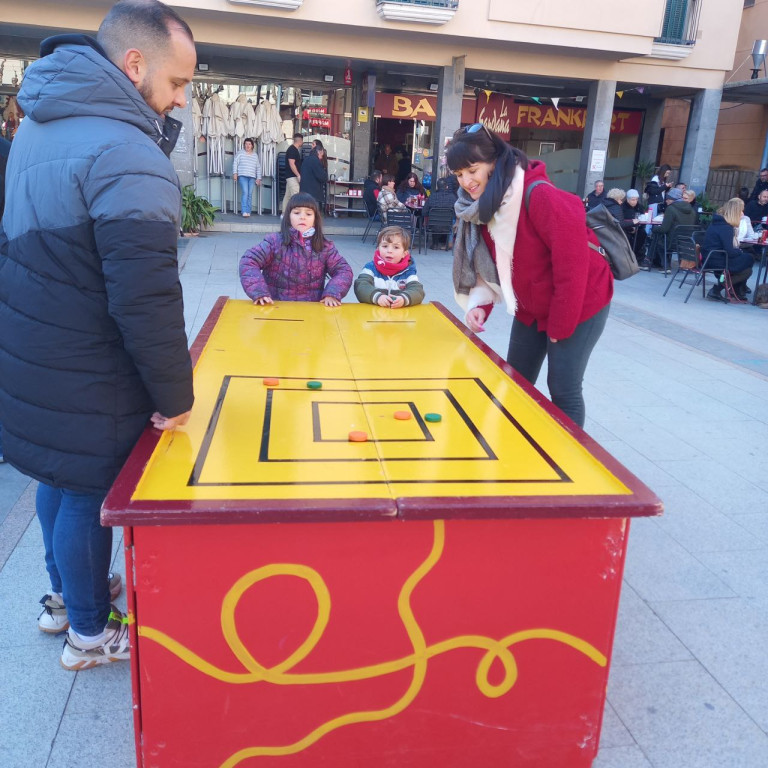
[[[51,588],[63,595],[69,623],[81,635],[98,635],[109,618],[112,529],[99,521],[105,496],[45,483],[37,487],[37,517]]]

